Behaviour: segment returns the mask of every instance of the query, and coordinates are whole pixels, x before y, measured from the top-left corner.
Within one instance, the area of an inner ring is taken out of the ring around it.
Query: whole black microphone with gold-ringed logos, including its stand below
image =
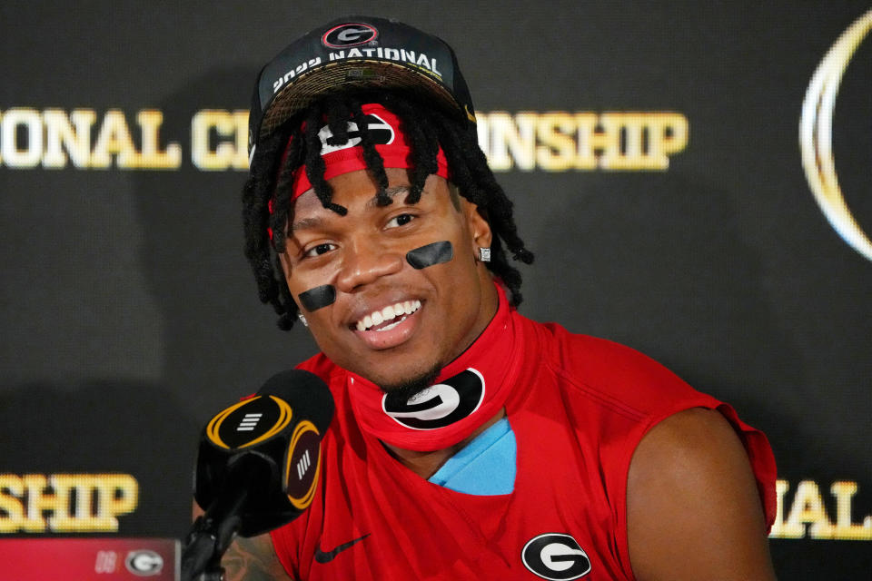
[[[235,534],[263,534],[309,507],[332,417],[332,395],[322,379],[289,369],[206,424],[193,477],[193,497],[206,512],[188,534],[183,579],[210,563],[220,578],[221,556]]]

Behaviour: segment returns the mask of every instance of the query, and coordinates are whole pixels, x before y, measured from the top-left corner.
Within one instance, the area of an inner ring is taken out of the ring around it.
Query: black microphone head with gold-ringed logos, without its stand
[[[302,369],[275,374],[255,396],[223,409],[203,428],[194,498],[210,507],[228,481],[238,479],[234,470],[256,472],[246,485],[253,494],[241,511],[239,533],[252,537],[290,522],[314,497],[332,416],[332,394],[318,376]]]

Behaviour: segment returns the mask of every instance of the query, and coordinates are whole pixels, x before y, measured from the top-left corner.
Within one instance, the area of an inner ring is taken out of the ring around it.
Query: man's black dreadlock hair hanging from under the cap
[[[388,177],[384,163],[367,131],[362,103],[381,103],[401,119],[401,131],[411,144],[411,188],[407,202],[420,201],[427,176],[437,171],[436,155],[441,146],[448,160],[451,182],[464,198],[478,206],[481,215],[490,223],[493,234],[491,259],[485,264],[508,288],[510,303],[520,305],[523,300],[520,272],[510,266],[506,251],[514,260],[526,264],[533,261],[533,254],[518,236],[512,203],[490,172],[474,130],[456,116],[435,108],[432,103],[422,102],[412,94],[395,91],[334,94],[312,103],[257,144],[249,178],[243,188],[245,256],[252,265],[260,300],[272,305],[279,315],[279,327],[290,330],[299,312],[279,260],[285,249],[287,225],[293,219],[291,185],[294,172],[301,166],[305,167],[306,176],[324,208],[340,215],[348,212],[332,202],[332,187],[324,180],[322,145],[318,136],[324,123],[332,133],[328,140],[331,145],[347,143],[348,122],[351,120],[357,124],[367,170],[378,187],[377,203],[382,206],[391,203],[386,192]]]

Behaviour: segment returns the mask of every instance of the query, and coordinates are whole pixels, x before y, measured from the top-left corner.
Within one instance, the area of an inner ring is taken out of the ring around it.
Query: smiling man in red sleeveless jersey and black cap
[[[312,505],[237,539],[228,578],[774,578],[765,436],[517,312],[509,256],[532,255],[473,111],[451,48],[395,21],[332,22],[263,68],[246,255],[336,415]]]

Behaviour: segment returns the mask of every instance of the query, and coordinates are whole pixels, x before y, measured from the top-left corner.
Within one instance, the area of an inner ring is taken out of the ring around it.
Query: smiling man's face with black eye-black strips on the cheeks
[[[298,306],[302,292],[322,285],[336,291],[328,306],[301,307],[324,354],[391,389],[457,358],[490,322],[497,295],[476,260],[478,249],[490,246],[490,226],[476,206],[452,197],[436,175],[421,201],[409,204],[408,172],[386,172],[388,206],[375,203],[376,188],[362,170],[330,180],[332,201],[348,209],[345,216],[325,210],[314,192],[303,193],[281,260]],[[406,261],[408,251],[440,241],[451,242],[450,261],[421,270]]]

